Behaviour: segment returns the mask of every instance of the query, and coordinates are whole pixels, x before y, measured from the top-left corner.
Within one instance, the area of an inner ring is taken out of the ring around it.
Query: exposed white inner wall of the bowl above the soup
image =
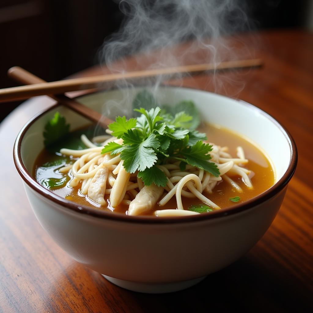
[[[142,88],[111,90],[94,93],[79,98],[79,101],[92,109],[114,119],[116,115],[131,114],[131,103]],[[156,98],[161,104],[174,105],[181,100],[192,100],[208,123],[218,124],[238,132],[254,142],[268,156],[275,170],[275,181],[279,181],[289,167],[291,143],[286,132],[269,115],[248,105],[244,101],[234,100],[201,90],[177,87],[161,87]],[[21,156],[28,172],[39,152],[44,148],[44,125],[59,111],[66,117],[71,130],[88,125],[90,122],[63,106],[45,113],[27,130],[21,144]]]

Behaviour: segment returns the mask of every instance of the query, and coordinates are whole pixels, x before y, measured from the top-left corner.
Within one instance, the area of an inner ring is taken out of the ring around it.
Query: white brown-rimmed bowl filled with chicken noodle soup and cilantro
[[[108,130],[63,106],[39,113],[13,157],[36,218],[65,252],[118,286],[163,293],[198,283],[258,242],[297,151],[274,118],[244,101],[161,87],[152,107],[133,115],[142,92],[77,99],[114,120]],[[45,146],[56,119],[69,132]]]

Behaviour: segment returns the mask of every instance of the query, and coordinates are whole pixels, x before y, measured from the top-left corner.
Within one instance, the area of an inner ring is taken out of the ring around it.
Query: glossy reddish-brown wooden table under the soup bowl
[[[294,136],[299,152],[285,201],[258,244],[200,284],[164,295],[124,290],[76,263],[39,225],[13,165],[18,131],[36,112],[53,103],[46,97],[31,99],[0,125],[0,312],[312,310],[313,33],[260,33],[243,36],[242,42],[254,47],[254,56],[264,59],[265,66],[239,76],[218,74],[225,82],[222,93],[273,115]],[[83,74],[97,71],[89,69]],[[212,90],[207,82],[208,76],[202,75],[184,79],[183,85]]]

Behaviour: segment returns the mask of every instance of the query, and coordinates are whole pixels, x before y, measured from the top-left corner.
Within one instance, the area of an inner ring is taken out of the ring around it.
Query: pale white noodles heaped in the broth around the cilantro
[[[108,171],[108,174],[102,195],[106,195],[106,197],[109,195],[111,206],[113,208],[116,208],[119,204],[129,206],[133,201],[131,199],[135,198],[138,201],[140,199],[140,191],[144,187],[141,178],[137,177],[138,172],[133,174],[127,173],[119,155],[111,156],[110,153],[101,154],[103,147],[96,146],[93,143],[104,141],[105,144],[114,141],[122,144],[122,140],[109,135],[94,137],[92,139],[93,142],[85,135],[82,135],[81,140],[88,147],[87,149],[60,150],[62,154],[76,158],[74,164],[59,168],[60,173],[68,173],[71,177],[68,186],[75,187],[81,182],[80,192],[83,195],[87,195],[96,173],[101,168],[106,168],[105,171]],[[210,162],[217,165],[220,172],[218,177],[190,164],[187,164],[185,170],[182,171],[179,166],[181,162],[171,159],[168,159],[166,164],[156,165],[167,177],[167,185],[160,192],[158,205],[160,207],[164,206],[174,195],[177,202],[177,209],[156,210],[154,212],[156,216],[170,217],[199,214],[198,212],[184,209],[182,197],[197,198],[213,209],[219,209],[219,206],[213,203],[203,193],[206,193],[207,196],[212,194],[214,187],[222,180],[228,183],[230,188],[233,188],[237,192],[243,192],[243,189],[231,177],[240,177],[248,188],[253,188],[251,180],[248,177],[250,171],[244,167],[249,161],[245,158],[243,148],[240,146],[237,147],[237,158],[233,158],[228,152],[228,147],[212,145],[212,151],[210,152],[212,159]]]

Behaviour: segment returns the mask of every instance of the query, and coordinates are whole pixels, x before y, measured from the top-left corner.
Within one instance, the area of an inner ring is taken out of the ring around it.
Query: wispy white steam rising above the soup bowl
[[[120,31],[105,41],[99,53],[100,63],[113,73],[182,64],[218,65],[223,60],[238,58],[222,38],[248,27],[243,0],[118,2],[125,20]],[[184,42],[184,48],[177,49],[177,44]],[[168,79],[168,76],[160,76],[141,83],[151,86],[157,94],[159,85]],[[218,92],[223,83],[215,75],[209,79],[213,80],[214,91]],[[122,88],[123,98],[127,100],[134,86],[132,82],[119,81],[116,87]],[[117,106],[125,111],[124,101],[115,99],[106,101],[103,113],[108,114]]]

